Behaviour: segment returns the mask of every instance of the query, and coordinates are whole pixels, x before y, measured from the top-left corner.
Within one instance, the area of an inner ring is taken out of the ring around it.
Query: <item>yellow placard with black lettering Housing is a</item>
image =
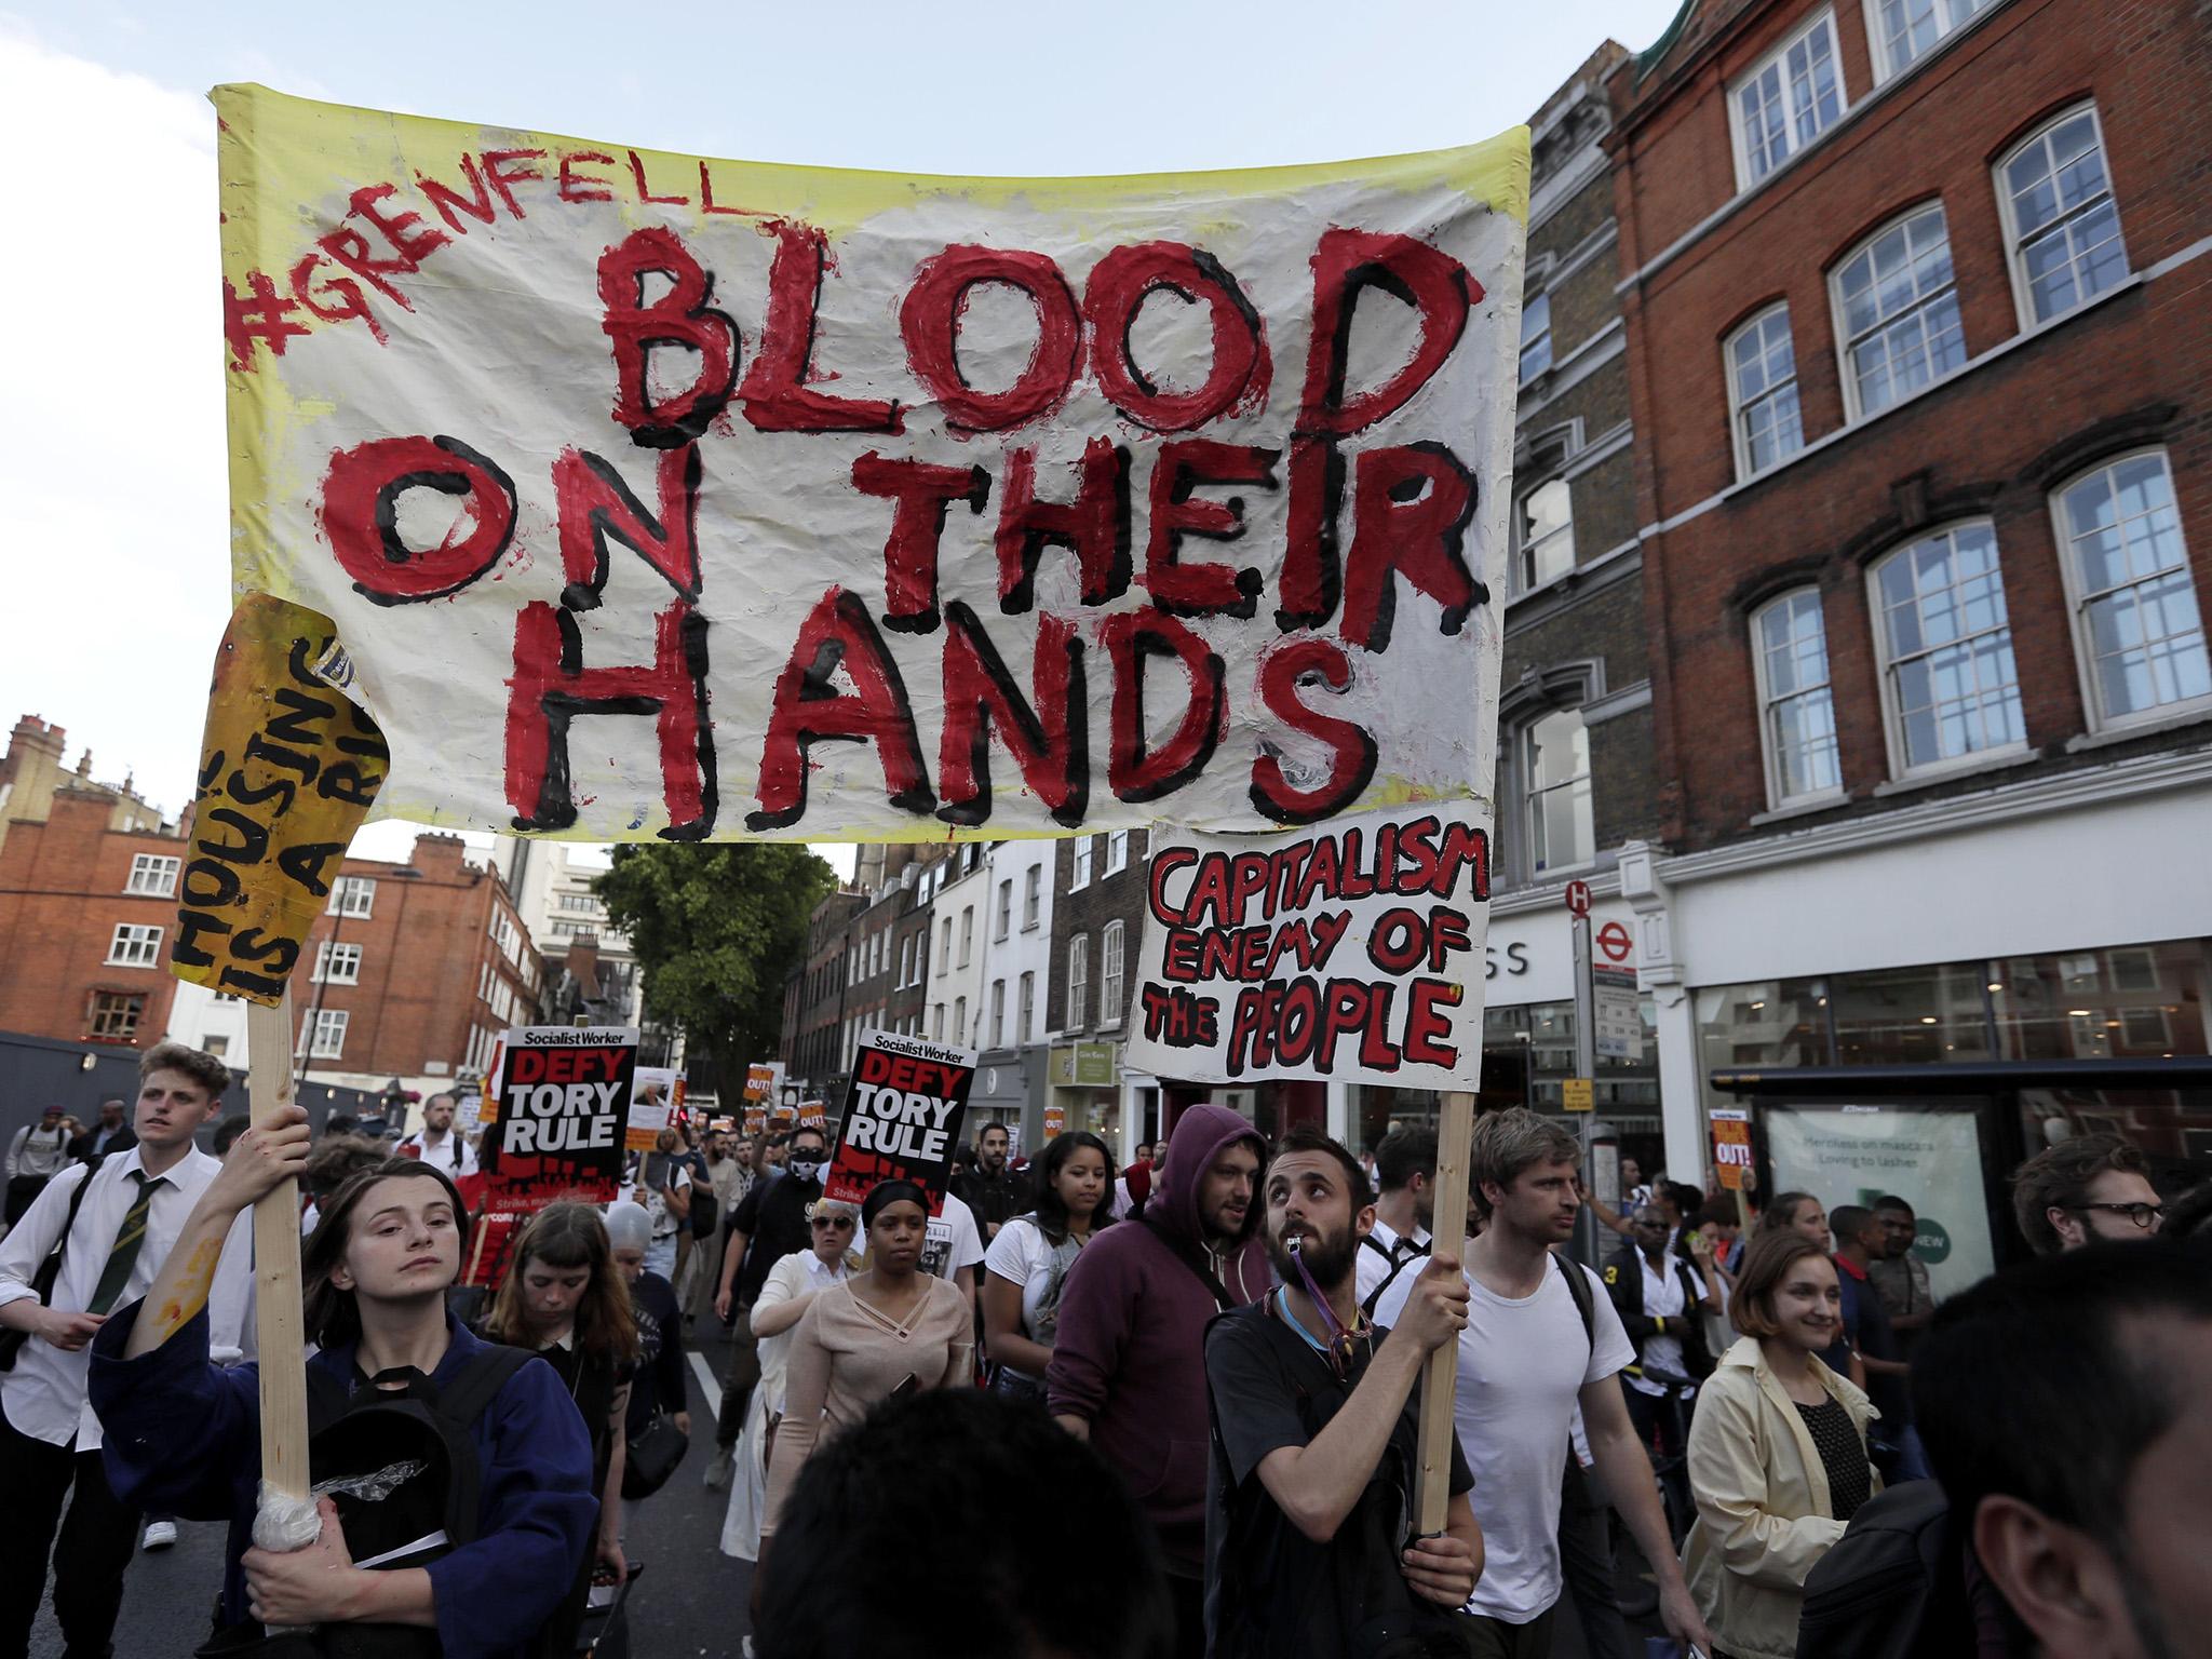
[[[376,721],[336,690],[345,675],[330,617],[270,593],[230,613],[177,885],[179,980],[265,1006],[283,995],[392,768]]]

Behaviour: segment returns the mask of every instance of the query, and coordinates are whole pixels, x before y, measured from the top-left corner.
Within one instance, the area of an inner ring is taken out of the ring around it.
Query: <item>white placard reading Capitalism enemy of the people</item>
[[[1467,805],[1155,836],[1124,1064],[1473,1088],[1491,838]]]

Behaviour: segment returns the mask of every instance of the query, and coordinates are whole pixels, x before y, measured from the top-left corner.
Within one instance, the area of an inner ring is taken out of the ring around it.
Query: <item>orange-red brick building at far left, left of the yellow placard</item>
[[[184,838],[142,805],[86,776],[53,787],[42,818],[9,823],[0,1031],[137,1048],[168,1026]]]

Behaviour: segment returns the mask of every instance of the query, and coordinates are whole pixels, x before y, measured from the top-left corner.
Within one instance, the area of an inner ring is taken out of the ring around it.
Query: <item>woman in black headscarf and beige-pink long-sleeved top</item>
[[[783,1422],[768,1460],[763,1564],[776,1513],[818,1440],[849,1429],[878,1400],[973,1380],[967,1298],[949,1279],[920,1272],[929,1194],[914,1181],[880,1181],[860,1206],[860,1225],[867,1272],[823,1287],[792,1340]]]

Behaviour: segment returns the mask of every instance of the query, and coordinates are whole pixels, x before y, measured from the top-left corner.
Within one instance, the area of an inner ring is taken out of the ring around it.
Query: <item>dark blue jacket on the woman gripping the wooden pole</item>
[[[104,1431],[102,1460],[115,1495],[133,1509],[186,1520],[228,1520],[223,1624],[248,1615],[239,1557],[252,1546],[261,1484],[261,1374],[208,1360],[208,1314],[161,1347],[126,1360],[144,1303],[119,1310],[93,1340],[91,1400]],[[484,1343],[447,1316],[451,1347],[440,1387]],[[307,1360],[354,1387],[354,1349]],[[575,1582],[599,1500],[591,1489],[591,1438],[553,1367],[515,1371],[476,1420],[482,1489],[478,1537],[431,1562],[438,1641],[449,1659],[526,1652]]]

